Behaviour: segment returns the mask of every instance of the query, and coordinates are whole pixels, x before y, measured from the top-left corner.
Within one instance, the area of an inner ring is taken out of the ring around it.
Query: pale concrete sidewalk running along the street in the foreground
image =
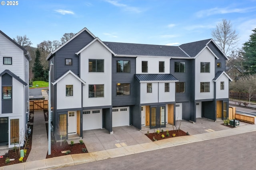
[[[42,160],[35,160],[24,162],[21,164],[14,164],[0,167],[0,170],[34,170],[34,169],[54,169],[64,166],[72,166],[76,164],[84,164],[108,158],[115,158],[119,156],[126,156],[140,152],[147,152],[172,146],[179,146],[193,142],[201,142],[214,138],[221,138],[224,136],[232,136],[236,134],[256,131],[256,125],[244,125],[236,128],[228,128],[226,130],[210,131],[201,134],[194,134],[189,136],[180,136],[175,138],[167,138],[155,142],[146,142],[141,144],[134,144],[131,146],[121,146],[118,148],[100,150],[84,154],[70,154],[66,156],[59,156],[55,158],[48,158]]]

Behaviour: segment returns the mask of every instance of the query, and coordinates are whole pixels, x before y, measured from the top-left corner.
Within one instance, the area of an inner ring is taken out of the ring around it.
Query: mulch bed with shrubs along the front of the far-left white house
[[[31,128],[31,134],[30,134],[30,136],[28,136],[28,142],[26,144],[26,148],[23,148],[23,147],[20,148],[20,149],[26,149],[27,150],[26,155],[24,155],[23,162],[26,162],[26,160],[28,158],[28,155],[29,155],[29,153],[31,151],[33,125],[30,125],[30,128]],[[10,159],[14,159],[14,160],[10,161],[10,163],[6,164],[5,163],[6,158],[10,158]],[[16,152],[15,152],[15,150],[9,150],[8,153],[6,153],[4,155],[3,158],[0,158],[0,167],[1,166],[6,166],[6,165],[22,163],[22,162],[19,161],[19,159],[20,159],[19,147],[16,148]]]

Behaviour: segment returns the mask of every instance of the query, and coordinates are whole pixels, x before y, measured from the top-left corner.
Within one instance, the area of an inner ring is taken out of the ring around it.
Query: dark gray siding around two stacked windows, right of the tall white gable
[[[117,73],[116,62],[118,60],[130,61],[130,73]],[[112,106],[128,106],[135,104],[135,77],[136,58],[112,57]],[[116,95],[116,83],[130,83],[130,95]]]

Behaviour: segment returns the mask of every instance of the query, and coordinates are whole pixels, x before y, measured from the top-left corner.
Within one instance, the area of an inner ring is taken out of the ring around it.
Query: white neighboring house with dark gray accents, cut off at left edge
[[[0,145],[14,147],[27,129],[29,53],[0,31]],[[17,145],[16,145],[17,146]]]

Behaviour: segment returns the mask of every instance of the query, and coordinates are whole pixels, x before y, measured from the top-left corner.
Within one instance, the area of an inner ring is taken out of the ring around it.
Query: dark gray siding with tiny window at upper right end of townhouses
[[[216,47],[213,42],[208,44],[212,52],[219,58],[215,59],[215,74],[218,71],[225,71],[226,70],[226,57],[222,54],[222,52]],[[217,63],[221,63],[221,67],[217,67]]]

